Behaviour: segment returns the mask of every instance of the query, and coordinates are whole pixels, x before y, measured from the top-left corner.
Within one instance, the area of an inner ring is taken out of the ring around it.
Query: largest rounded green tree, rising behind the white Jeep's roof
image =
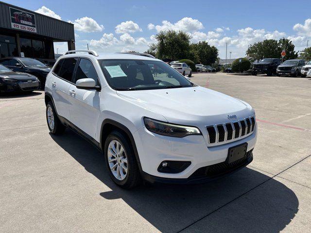
[[[155,35],[157,42],[151,44],[147,52],[155,51],[159,59],[172,59],[173,61],[186,58],[189,51],[191,36],[182,31],[161,31]]]

